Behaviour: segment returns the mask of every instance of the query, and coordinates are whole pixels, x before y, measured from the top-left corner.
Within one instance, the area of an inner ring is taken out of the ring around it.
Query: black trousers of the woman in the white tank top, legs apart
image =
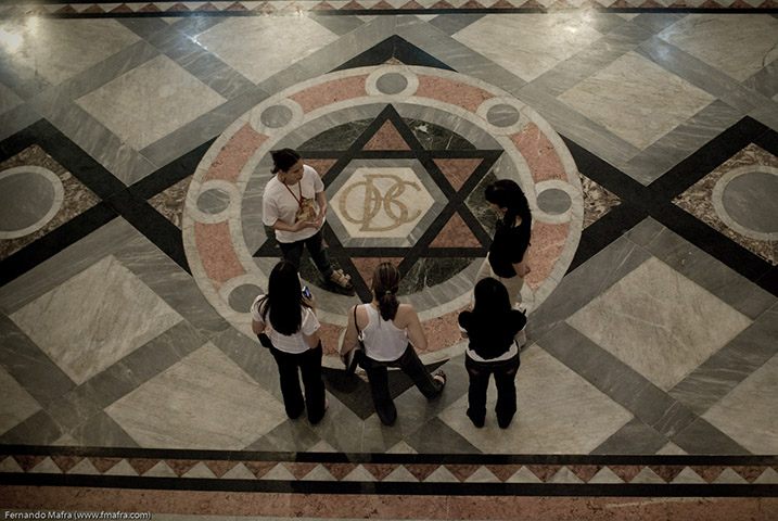
[[[443,392],[443,383],[432,378],[432,374],[426,370],[419,359],[419,355],[416,354],[416,350],[410,344],[408,344],[403,356],[396,360],[379,361],[369,356],[362,356],[359,365],[368,373],[375,412],[386,425],[391,425],[397,420],[397,408],[388,390],[390,367],[400,368],[428,399],[432,399]]]

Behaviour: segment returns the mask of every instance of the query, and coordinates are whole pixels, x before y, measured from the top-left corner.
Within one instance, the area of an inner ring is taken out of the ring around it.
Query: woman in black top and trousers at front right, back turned
[[[464,354],[470,377],[468,417],[475,427],[484,427],[486,390],[489,374],[494,374],[497,424],[506,429],[516,411],[515,376],[520,360],[514,339],[526,325],[526,318],[511,307],[506,287],[496,279],[479,281],[474,294],[473,310],[459,314],[459,329],[470,340]]]

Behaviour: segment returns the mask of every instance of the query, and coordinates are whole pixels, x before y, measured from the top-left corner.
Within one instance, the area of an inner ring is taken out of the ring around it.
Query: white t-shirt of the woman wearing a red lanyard
[[[314,200],[314,206],[318,213],[320,208],[316,204],[316,194],[323,191],[324,183],[321,181],[321,177],[308,165],[303,165],[303,178],[299,182],[291,185],[289,188],[278,180],[278,176],[273,176],[265,187],[262,198],[262,220],[265,226],[272,226],[277,220],[294,226],[294,216],[299,207],[297,200],[301,194],[305,199]],[[276,230],[276,240],[283,243],[304,241],[315,236],[317,231],[319,230],[316,228],[303,228],[296,232]]]

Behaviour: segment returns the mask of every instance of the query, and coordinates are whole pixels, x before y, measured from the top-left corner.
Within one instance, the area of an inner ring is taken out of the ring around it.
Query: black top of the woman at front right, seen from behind
[[[508,352],[513,338],[526,325],[523,313],[511,309],[502,320],[489,317],[492,320],[482,321],[473,312],[459,314],[459,326],[468,332],[470,348],[481,358],[490,360]]]

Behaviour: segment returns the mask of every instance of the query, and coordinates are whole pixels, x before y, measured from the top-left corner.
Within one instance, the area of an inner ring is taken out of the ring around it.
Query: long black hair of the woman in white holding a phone
[[[270,272],[267,295],[259,301],[259,313],[263,321],[281,334],[291,335],[299,331],[303,321],[299,313],[303,301],[299,277],[294,265],[281,260]]]

